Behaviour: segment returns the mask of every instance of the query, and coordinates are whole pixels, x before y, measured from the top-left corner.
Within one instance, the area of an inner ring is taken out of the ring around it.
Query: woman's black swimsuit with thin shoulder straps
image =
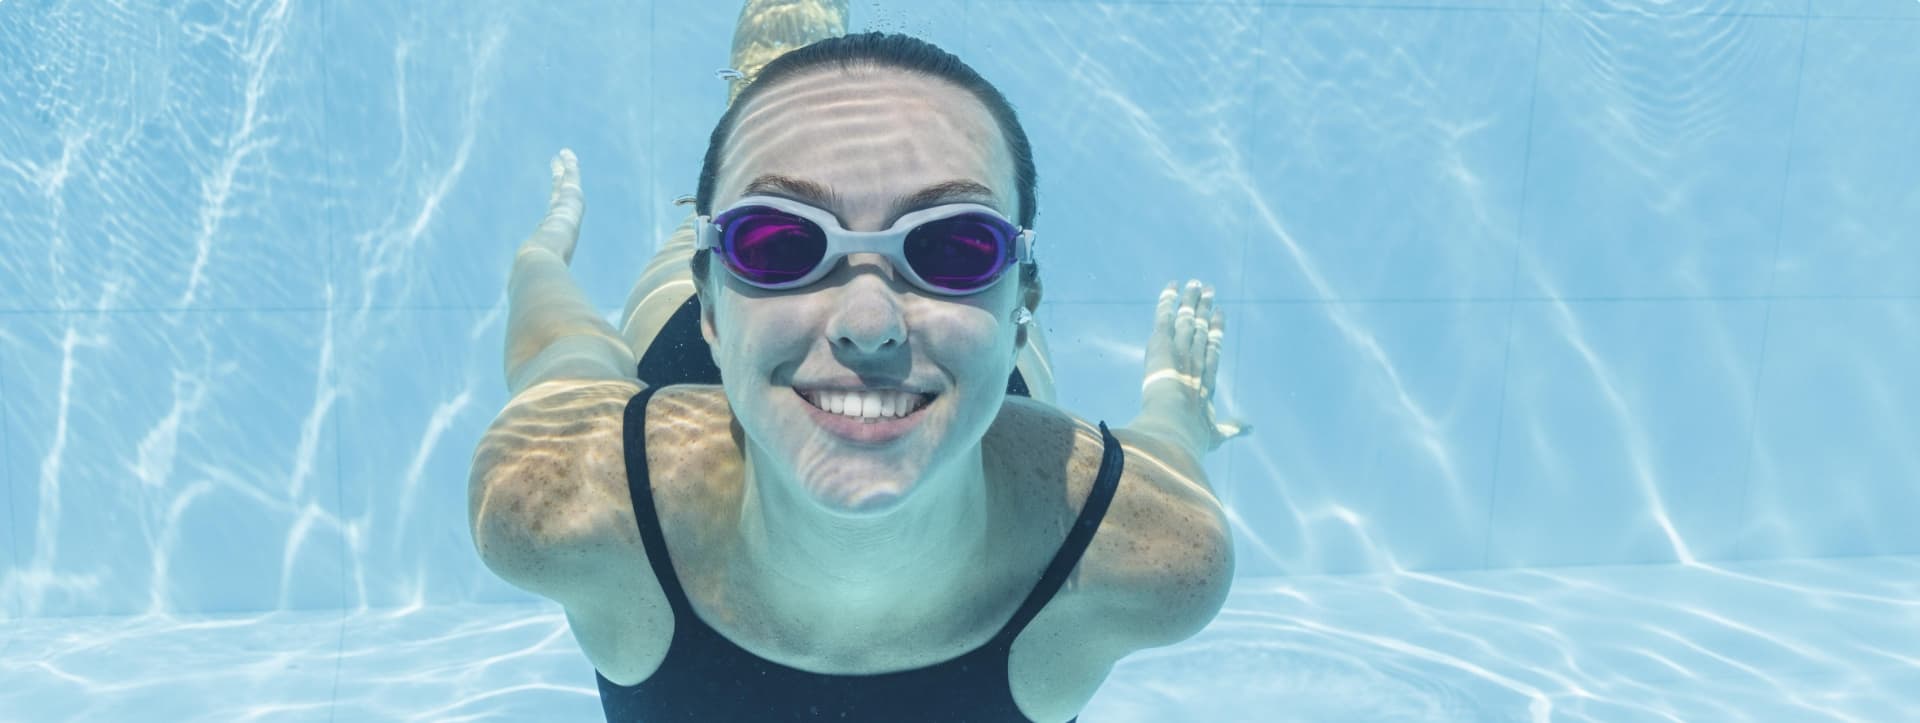
[[[680,315],[676,315],[678,318]],[[670,322],[668,328],[672,326]],[[699,339],[697,334],[693,338]],[[647,351],[647,359],[653,359],[653,351],[659,347],[657,341]],[[699,357],[707,359],[705,343],[699,351]],[[641,370],[647,370],[647,362],[641,362]],[[1054,598],[1068,573],[1073,571],[1119,485],[1119,441],[1114,439],[1106,424],[1100,424],[1100,437],[1106,445],[1100,472],[1073,529],[1020,610],[987,644],[958,658],[908,671],[824,675],[755,656],[707,625],[687,602],[687,595],[674,575],[666,537],[660,533],[659,514],[653,506],[653,485],[647,478],[647,401],[664,384],[641,378],[647,380],[649,387],[634,395],[626,407],[626,479],[634,497],[634,518],[639,522],[639,539],[647,548],[647,562],[674,612],[674,639],[660,667],[637,685],[614,685],[605,675],[595,673],[601,708],[609,721],[1027,721],[1014,704],[1006,669],[1008,656],[1014,639]]]

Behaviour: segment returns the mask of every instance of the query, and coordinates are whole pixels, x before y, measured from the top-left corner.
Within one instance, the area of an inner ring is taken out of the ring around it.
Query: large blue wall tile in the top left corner
[[[321,303],[317,33],[300,10],[188,15],[8,10],[29,61],[0,75],[0,309]]]

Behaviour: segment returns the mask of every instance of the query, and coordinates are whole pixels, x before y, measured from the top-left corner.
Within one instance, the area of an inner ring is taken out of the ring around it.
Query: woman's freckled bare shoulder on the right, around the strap
[[[1119,485],[1066,593],[1073,608],[1112,623],[1102,625],[1104,642],[1125,654],[1185,641],[1219,614],[1233,581],[1233,537],[1219,499],[1196,479],[1200,470],[1158,458],[1127,430],[1110,431],[1121,449]],[[1010,397],[991,435],[1031,466],[1021,478],[1054,479],[1054,495],[1079,512],[1104,460],[1096,424]]]

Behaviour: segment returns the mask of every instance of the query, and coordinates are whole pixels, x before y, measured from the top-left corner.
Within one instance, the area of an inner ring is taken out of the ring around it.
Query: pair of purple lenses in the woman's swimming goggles
[[[756,286],[793,284],[828,255],[828,234],[799,215],[764,205],[714,219],[728,267]],[[985,213],[933,219],[906,234],[900,255],[935,292],[973,292],[1000,278],[1016,228]]]

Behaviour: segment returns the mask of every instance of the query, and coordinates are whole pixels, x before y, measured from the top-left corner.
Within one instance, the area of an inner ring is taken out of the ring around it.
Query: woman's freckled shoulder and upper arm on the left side
[[[645,558],[622,443],[637,391],[636,382],[545,382],[501,410],[468,472],[468,524],[488,570],[572,606],[589,602],[609,570]]]

